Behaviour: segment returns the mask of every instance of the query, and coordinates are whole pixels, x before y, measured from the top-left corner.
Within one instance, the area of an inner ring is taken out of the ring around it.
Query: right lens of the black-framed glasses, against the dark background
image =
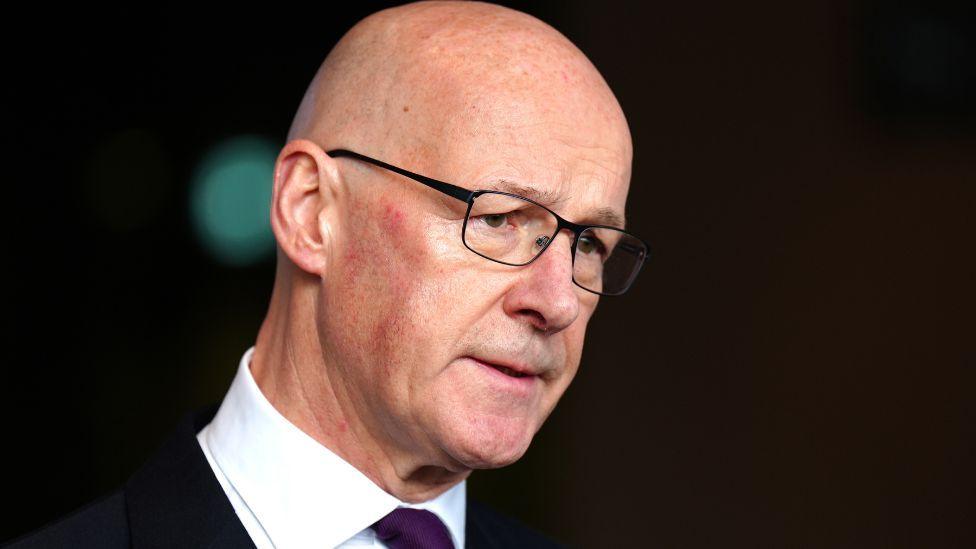
[[[647,246],[623,231],[592,227],[580,233],[573,261],[573,280],[604,295],[617,295],[637,278]]]

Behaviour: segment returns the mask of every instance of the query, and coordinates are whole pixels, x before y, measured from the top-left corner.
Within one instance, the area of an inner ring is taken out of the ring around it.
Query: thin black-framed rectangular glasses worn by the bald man
[[[573,233],[573,283],[598,295],[627,291],[647,259],[647,243],[607,225],[579,225],[549,208],[517,194],[468,189],[398,168],[345,149],[327,152],[400,174],[468,205],[461,241],[472,252],[492,261],[520,267],[532,263],[562,230]]]

